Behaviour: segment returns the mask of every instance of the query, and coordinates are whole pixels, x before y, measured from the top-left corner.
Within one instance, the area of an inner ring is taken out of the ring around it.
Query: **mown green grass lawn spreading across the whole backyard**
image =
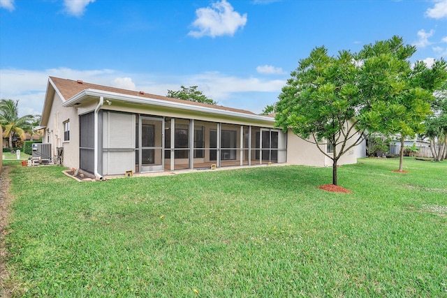
[[[15,297],[447,297],[447,162],[359,161],[339,168],[351,194],[318,189],[330,167],[82,183],[14,167],[7,283]]]

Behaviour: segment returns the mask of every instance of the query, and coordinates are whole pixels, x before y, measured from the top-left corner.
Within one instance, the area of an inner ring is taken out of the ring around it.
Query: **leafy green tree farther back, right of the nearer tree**
[[[358,54],[363,64],[358,87],[371,109],[362,114],[369,131],[400,135],[400,164],[403,169],[404,140],[423,133],[430,115],[432,91],[421,79],[422,66],[411,69],[410,57],[416,47],[404,45],[402,38],[366,45]]]

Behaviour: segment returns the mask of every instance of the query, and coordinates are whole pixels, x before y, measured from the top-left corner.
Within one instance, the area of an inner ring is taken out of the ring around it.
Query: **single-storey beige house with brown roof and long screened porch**
[[[314,144],[274,128],[272,117],[144,91],[50,77],[43,143],[63,165],[110,175],[249,166],[332,165]],[[353,148],[339,161],[356,163]]]

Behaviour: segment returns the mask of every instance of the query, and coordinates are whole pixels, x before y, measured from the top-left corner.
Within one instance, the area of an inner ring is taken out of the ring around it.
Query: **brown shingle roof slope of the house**
[[[81,80],[75,81],[75,80],[68,80],[68,79],[61,79],[60,77],[50,77],[56,88],[59,90],[60,94],[64,97],[64,100],[68,100],[75,96],[76,94],[84,91],[85,89],[94,89],[94,90],[100,90],[100,91],[108,91],[108,92],[114,92],[117,94],[126,94],[130,96],[138,96],[142,98],[154,98],[159,100],[166,100],[171,103],[182,103],[182,104],[188,104],[188,105],[196,105],[200,107],[210,107],[217,110],[225,110],[230,112],[239,112],[243,114],[251,114],[254,115],[254,112],[250,112],[247,110],[240,110],[240,109],[234,109],[233,107],[223,107],[221,105],[208,105],[206,103],[196,103],[193,101],[188,100],[182,100],[177,98],[170,98],[166,96],[159,96],[155,94],[147,94],[142,91],[132,91],[132,90],[126,90],[126,89],[119,89],[114,87],[107,87],[97,84],[91,84],[87,82],[82,82]]]

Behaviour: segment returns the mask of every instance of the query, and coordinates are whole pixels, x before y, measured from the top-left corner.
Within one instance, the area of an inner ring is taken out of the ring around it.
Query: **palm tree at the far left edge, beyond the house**
[[[34,121],[33,115],[19,117],[17,105],[19,100],[0,100],[0,124],[3,127],[3,135],[9,137],[9,148],[13,151],[13,137],[19,135],[24,140],[25,133],[31,131]]]

